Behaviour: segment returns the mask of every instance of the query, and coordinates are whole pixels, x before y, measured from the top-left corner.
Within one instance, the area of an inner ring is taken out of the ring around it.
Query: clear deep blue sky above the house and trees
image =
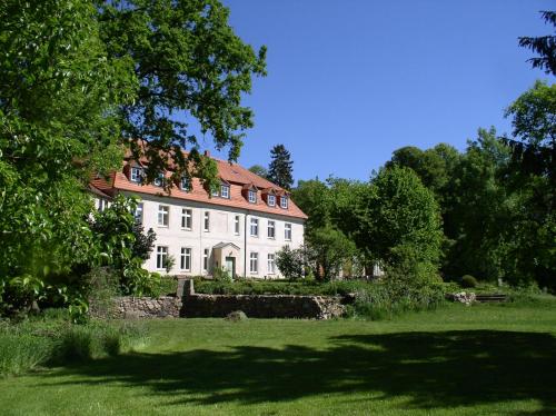
[[[268,48],[268,76],[239,162],[291,151],[297,179],[368,179],[403,146],[463,150],[535,79],[519,36],[548,34],[556,1],[224,0],[244,41]],[[209,140],[207,140],[209,145]]]

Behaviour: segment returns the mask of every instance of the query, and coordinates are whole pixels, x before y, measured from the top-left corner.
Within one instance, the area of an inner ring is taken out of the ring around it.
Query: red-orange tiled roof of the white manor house
[[[195,178],[192,180],[192,186],[190,191],[183,191],[177,186],[171,188],[171,194],[168,195],[162,188],[156,187],[153,185],[140,185],[132,182],[128,179],[123,172],[115,172],[111,175],[109,180],[95,179],[92,185],[100,189],[101,191],[113,195],[118,190],[126,190],[138,194],[148,194],[165,196],[169,198],[177,198],[182,200],[192,200],[198,202],[212,204],[222,207],[249,209],[258,212],[267,212],[281,215],[294,218],[307,219],[307,215],[290,199],[288,198],[288,208],[280,208],[279,201],[275,207],[269,207],[266,201],[261,198],[261,194],[257,196],[257,202],[250,204],[242,195],[242,188],[245,185],[252,184],[259,189],[272,188],[278,195],[288,195],[288,192],[277,185],[268,181],[255,175],[250,170],[237,165],[229,164],[224,160],[215,159],[218,165],[219,177],[230,184],[230,198],[210,197],[205,190],[199,179]]]

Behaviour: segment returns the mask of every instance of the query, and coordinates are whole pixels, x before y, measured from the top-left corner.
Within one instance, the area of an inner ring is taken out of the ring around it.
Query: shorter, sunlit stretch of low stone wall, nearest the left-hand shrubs
[[[108,310],[107,310],[108,309]],[[109,308],[90,306],[90,315],[123,319],[141,318],[178,318],[181,309],[181,299],[175,296],[159,298],[122,296],[112,299]]]

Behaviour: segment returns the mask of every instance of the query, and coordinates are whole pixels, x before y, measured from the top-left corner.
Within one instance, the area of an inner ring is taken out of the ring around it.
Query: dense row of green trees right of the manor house
[[[512,137],[479,129],[464,152],[404,147],[368,182],[299,181],[309,245],[326,234],[367,268],[555,290],[556,85],[537,82],[506,116]]]

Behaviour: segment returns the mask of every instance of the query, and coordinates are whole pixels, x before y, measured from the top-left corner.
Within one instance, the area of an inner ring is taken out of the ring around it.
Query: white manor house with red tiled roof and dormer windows
[[[139,197],[137,220],[157,234],[145,264],[150,271],[166,274],[166,259],[172,256],[171,275],[210,276],[224,268],[232,276],[281,277],[276,252],[304,244],[307,216],[285,189],[237,164],[215,160],[221,185],[211,196],[198,179],[189,191],[175,184],[170,195],[161,180],[142,185],[143,165],[130,157],[109,180],[92,180],[90,190],[98,209],[117,194]]]

